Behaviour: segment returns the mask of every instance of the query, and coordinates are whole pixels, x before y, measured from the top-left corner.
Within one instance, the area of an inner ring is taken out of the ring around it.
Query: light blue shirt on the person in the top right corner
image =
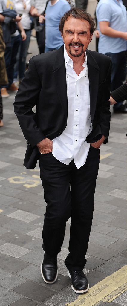
[[[109,21],[110,28],[127,32],[127,11],[122,0],[99,0],[96,7],[98,21]],[[100,29],[99,29],[100,32]],[[100,32],[98,50],[100,53],[119,53],[127,50],[127,41],[123,38],[109,37]]]

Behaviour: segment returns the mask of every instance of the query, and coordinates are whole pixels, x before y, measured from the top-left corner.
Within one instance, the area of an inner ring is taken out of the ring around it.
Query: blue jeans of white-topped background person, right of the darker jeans
[[[27,57],[27,51],[28,51],[28,47],[30,43],[31,30],[25,30],[25,33],[27,35],[27,38],[21,41],[21,44],[20,44],[20,47],[17,53],[16,64],[14,67],[14,79],[17,79],[17,76],[19,75],[19,81],[21,81],[24,78],[26,57]]]

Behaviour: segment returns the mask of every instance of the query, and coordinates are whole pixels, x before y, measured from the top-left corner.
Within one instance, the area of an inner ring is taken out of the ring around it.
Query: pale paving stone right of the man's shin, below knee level
[[[112,221],[111,221],[112,223]],[[99,222],[93,219],[92,230],[101,234],[108,234],[111,231],[115,230],[117,227],[112,226],[109,223]]]

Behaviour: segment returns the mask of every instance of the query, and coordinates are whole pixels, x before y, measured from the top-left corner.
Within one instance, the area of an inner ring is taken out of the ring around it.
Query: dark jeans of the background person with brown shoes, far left
[[[11,37],[11,47],[6,47],[5,49],[5,63],[6,63],[6,72],[8,76],[7,85],[1,85],[2,87],[8,88],[13,83],[13,74],[14,74],[14,65],[16,63],[16,56],[18,52],[18,48],[21,43],[21,35]]]

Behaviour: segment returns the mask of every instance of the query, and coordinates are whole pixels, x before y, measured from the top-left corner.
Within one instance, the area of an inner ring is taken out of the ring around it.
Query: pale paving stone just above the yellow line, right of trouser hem
[[[95,243],[89,243],[87,254],[89,254],[90,256],[95,256],[97,258],[104,259],[104,260],[109,260],[110,258],[114,257],[115,255],[119,253],[119,250],[111,249],[112,245],[114,244],[110,244],[110,248],[109,247],[106,248],[102,245],[98,245]]]

